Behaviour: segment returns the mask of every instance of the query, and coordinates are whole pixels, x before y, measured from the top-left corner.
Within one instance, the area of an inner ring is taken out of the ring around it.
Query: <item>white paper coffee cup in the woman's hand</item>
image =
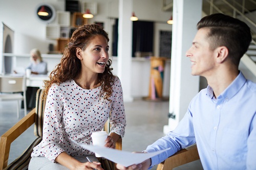
[[[108,134],[106,131],[98,131],[98,132],[93,132],[92,133],[92,140],[93,140],[93,145],[98,145],[100,147],[104,147],[106,144],[105,140],[108,137]],[[96,157],[101,157],[99,154],[95,153]]]

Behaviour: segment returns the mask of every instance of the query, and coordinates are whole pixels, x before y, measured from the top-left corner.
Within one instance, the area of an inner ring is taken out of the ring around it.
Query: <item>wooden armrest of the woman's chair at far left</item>
[[[0,169],[8,164],[11,143],[35,122],[35,108],[20,119],[11,129],[0,138]]]

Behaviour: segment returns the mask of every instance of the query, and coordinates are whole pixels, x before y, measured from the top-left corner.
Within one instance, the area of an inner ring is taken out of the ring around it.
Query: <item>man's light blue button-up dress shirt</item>
[[[256,84],[241,71],[217,99],[210,86],[201,90],[177,128],[145,152],[171,148],[153,166],[193,143],[204,169],[256,169]]]

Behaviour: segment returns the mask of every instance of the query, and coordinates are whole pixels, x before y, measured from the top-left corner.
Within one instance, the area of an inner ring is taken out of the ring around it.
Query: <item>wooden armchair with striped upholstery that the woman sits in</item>
[[[36,108],[31,110],[25,117],[19,120],[11,129],[4,133],[0,138],[0,169],[28,169],[28,165],[31,159],[31,153],[33,148],[42,140],[42,125],[45,111],[45,100],[41,100],[41,94],[43,90],[38,89],[36,93]],[[34,125],[34,134],[37,137],[29,147],[16,158],[13,162],[8,164],[9,152],[11,143],[24,131],[26,131],[31,125]],[[109,131],[109,122],[105,124],[105,131]],[[116,149],[122,149],[122,139],[116,142]]]

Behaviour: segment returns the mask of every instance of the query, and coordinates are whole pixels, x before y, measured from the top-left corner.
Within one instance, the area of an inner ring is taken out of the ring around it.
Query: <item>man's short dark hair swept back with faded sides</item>
[[[211,50],[218,46],[228,48],[228,58],[239,65],[240,59],[248,50],[251,42],[250,28],[245,22],[221,13],[203,17],[197,24],[197,29],[208,28]]]

